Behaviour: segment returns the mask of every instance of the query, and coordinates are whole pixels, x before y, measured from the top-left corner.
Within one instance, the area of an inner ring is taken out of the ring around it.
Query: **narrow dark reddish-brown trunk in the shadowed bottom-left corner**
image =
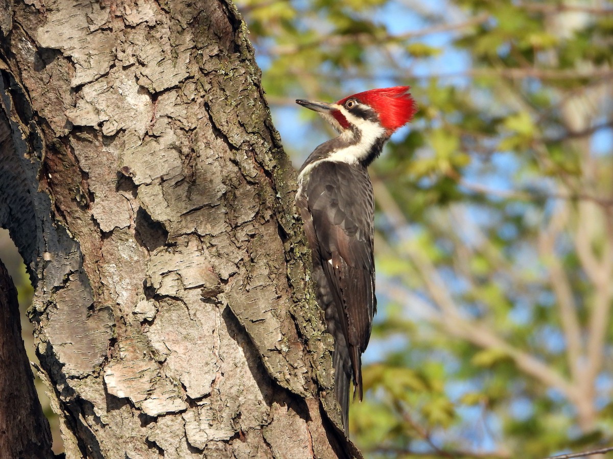
[[[1,129],[2,124],[0,124]],[[6,131],[2,132],[6,133]],[[17,290],[0,261],[0,451],[2,457],[47,459],[51,431],[34,389],[21,340]]]

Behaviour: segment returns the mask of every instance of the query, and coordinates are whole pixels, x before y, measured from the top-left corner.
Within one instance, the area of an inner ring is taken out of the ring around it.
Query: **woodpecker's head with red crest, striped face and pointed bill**
[[[417,111],[409,86],[371,89],[349,95],[337,103],[296,100],[321,114],[341,134],[389,137],[413,118]]]

